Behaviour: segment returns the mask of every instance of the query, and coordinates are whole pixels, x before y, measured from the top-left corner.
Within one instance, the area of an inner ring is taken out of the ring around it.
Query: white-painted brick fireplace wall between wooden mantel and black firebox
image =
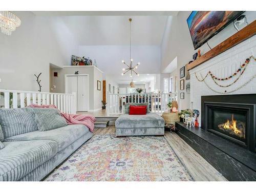
[[[256,78],[253,78],[249,83],[243,86],[246,82],[248,82],[253,76],[256,75],[256,61],[251,59],[248,64],[244,74],[240,77],[240,79],[232,84],[232,86],[227,88],[222,88],[215,84],[214,80],[208,75],[205,81],[200,82],[197,80],[195,73],[199,79],[203,79],[208,71],[211,71],[212,74],[216,75],[220,78],[225,78],[233,73],[244,63],[246,58],[249,58],[251,55],[256,57],[256,35],[253,37],[241,42],[241,44],[223,52],[222,54],[204,62],[202,65],[191,69],[190,73],[190,108],[197,109],[200,111],[199,122],[201,125],[201,96],[203,95],[221,95],[221,93],[225,94],[250,94],[256,93]],[[202,76],[201,76],[202,75]],[[225,81],[218,81],[221,85],[227,85],[237,79],[237,76]],[[207,85],[217,92],[210,90]],[[241,87],[241,89],[236,90]],[[242,102],[242,101],[241,101]]]

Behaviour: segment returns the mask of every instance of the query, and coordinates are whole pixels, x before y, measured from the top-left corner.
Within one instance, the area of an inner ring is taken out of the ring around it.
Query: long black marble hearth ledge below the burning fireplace
[[[176,122],[177,134],[229,181],[256,181],[256,153],[200,127]]]

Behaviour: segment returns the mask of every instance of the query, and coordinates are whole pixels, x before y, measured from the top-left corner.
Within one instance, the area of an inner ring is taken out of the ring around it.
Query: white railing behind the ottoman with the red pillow
[[[131,93],[131,94],[112,94],[107,93],[106,111],[108,115],[117,115],[124,113],[124,105],[129,102],[144,103],[147,102],[150,111],[162,114],[167,111],[167,103],[177,100],[176,93]]]

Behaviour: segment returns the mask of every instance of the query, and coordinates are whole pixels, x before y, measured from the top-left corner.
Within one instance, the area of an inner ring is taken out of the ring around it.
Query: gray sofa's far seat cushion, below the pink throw
[[[82,124],[74,124],[46,132],[36,131],[16,135],[5,139],[5,141],[51,140],[57,142],[59,152],[88,132],[89,129],[87,126]]]

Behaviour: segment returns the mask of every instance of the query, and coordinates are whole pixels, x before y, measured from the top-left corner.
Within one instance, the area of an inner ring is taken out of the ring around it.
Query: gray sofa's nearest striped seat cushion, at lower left
[[[4,142],[0,150],[0,181],[17,181],[57,154],[54,141]]]

